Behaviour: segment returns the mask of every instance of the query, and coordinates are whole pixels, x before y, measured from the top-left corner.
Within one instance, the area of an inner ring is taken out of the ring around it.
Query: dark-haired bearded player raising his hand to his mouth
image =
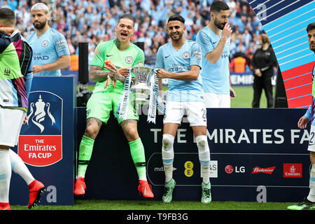
[[[211,4],[209,25],[197,34],[202,48],[202,85],[207,108],[230,108],[235,91],[230,82],[230,8],[224,1]]]

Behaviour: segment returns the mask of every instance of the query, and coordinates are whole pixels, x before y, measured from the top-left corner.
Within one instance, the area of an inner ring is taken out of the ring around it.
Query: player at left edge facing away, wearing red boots
[[[29,209],[34,207],[45,190],[43,183],[34,179],[20,156],[10,150],[18,144],[28,108],[33,56],[31,47],[14,27],[13,10],[0,8],[0,210],[10,209],[11,169],[29,186]]]

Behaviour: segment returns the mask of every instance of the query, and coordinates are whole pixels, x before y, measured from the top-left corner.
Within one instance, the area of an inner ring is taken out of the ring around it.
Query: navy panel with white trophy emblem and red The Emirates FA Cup
[[[27,123],[22,125],[15,153],[35,179],[45,185],[41,204],[73,204],[73,153],[76,127],[76,78],[34,76]],[[12,173],[10,204],[28,204],[29,190]]]

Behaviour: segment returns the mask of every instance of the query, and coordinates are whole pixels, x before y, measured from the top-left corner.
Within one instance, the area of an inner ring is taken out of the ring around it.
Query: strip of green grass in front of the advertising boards
[[[295,202],[201,202],[75,200],[73,206],[38,205],[32,210],[286,210]],[[12,210],[29,210],[27,206],[10,206]]]

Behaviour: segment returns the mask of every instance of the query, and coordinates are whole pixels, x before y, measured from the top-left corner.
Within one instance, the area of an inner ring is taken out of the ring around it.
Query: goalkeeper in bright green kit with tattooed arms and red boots
[[[85,194],[85,172],[92,156],[94,139],[102,125],[109,120],[111,111],[116,114],[116,109],[123,95],[125,78],[130,71],[130,67],[144,65],[144,51],[130,42],[130,36],[134,33],[134,18],[132,18],[132,15],[122,15],[115,30],[116,39],[99,43],[90,63],[90,81],[96,81],[97,84],[87,102],[86,128],[80,142],[74,195]],[[112,63],[106,63],[109,60]],[[132,94],[130,94],[127,118],[120,119],[117,115],[116,118],[130,145],[132,160],[139,176],[139,193],[144,197],[154,197],[151,186],[146,179],[144,146],[137,130],[139,116],[137,106],[132,102],[132,97]]]

